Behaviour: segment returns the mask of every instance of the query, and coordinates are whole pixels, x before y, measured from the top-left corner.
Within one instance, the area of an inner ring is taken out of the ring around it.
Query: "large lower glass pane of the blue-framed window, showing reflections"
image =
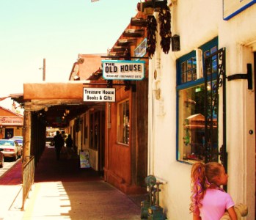
[[[211,89],[211,87],[208,87]],[[207,92],[211,92],[208,90]],[[205,159],[205,87],[196,87],[179,91],[179,150],[180,161],[204,161]],[[217,118],[213,112],[213,136],[211,142],[218,152]]]

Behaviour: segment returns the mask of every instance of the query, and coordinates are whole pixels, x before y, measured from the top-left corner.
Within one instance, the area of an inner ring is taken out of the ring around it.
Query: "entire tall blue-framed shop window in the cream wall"
[[[214,100],[210,100],[213,108],[210,108],[211,110],[205,109],[205,98],[209,97],[208,94],[216,92],[213,89],[216,86],[217,77],[216,56],[213,56],[212,58],[211,70],[206,70],[206,73],[203,73],[202,77],[198,77],[199,75],[197,71],[197,68],[200,67],[197,63],[197,59],[200,58],[204,60],[205,56],[216,52],[217,42],[217,38],[215,38],[211,40],[211,42],[202,45],[200,47],[202,57],[199,57],[198,54],[196,54],[196,51],[191,51],[191,53],[178,59],[177,62],[178,161],[185,161],[188,163],[205,161],[205,111],[213,111],[211,112],[211,115],[213,116],[211,119],[211,144],[213,145],[213,151],[218,152],[218,106],[216,106]],[[208,81],[208,83],[205,84],[205,77],[208,79],[210,75],[211,81]],[[209,103],[209,100],[207,103]],[[206,120],[208,120],[207,117]],[[217,153],[215,155],[217,155]],[[213,161],[217,160],[218,158],[213,158]]]

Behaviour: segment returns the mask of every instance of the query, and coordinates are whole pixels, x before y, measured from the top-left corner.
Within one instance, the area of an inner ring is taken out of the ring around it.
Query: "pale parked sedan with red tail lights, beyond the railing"
[[[0,149],[3,149],[1,153],[4,154],[4,158],[13,158],[15,161],[19,157],[18,142],[10,139],[0,139]]]

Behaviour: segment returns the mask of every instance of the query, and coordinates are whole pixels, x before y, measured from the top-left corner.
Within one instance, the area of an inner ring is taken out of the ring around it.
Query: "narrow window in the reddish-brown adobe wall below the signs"
[[[130,112],[129,100],[125,100],[117,105],[117,142],[129,144],[130,134]]]

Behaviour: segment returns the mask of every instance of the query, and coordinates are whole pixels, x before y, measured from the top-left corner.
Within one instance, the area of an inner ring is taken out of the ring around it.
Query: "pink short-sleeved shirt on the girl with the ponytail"
[[[230,194],[213,188],[206,190],[201,203],[200,216],[202,220],[219,220],[227,209],[235,205]]]

